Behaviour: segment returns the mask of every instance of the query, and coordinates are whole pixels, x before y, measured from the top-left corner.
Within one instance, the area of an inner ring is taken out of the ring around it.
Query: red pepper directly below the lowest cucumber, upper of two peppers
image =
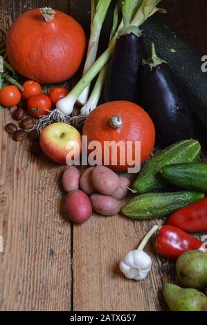
[[[166,224],[174,225],[184,232],[205,232],[207,230],[207,198],[177,210]]]

